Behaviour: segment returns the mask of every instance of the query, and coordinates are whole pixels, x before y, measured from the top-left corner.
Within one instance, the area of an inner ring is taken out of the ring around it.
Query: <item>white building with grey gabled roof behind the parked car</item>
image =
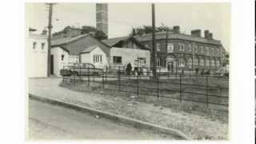
[[[53,74],[60,76],[64,66],[74,63],[91,63],[96,68],[108,66],[110,46],[98,41],[90,34],[57,38],[52,41],[51,58]]]

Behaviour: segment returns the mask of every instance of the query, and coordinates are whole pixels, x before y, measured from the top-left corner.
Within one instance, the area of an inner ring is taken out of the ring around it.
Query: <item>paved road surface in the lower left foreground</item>
[[[29,100],[29,138],[49,139],[174,139],[62,106]]]

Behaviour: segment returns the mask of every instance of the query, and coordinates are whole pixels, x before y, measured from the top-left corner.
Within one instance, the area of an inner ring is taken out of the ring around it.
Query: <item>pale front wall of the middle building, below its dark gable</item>
[[[138,50],[130,48],[117,48],[112,47],[110,49],[110,65],[113,64],[113,57],[119,56],[122,57],[122,65],[125,66],[129,62],[134,68],[134,61],[137,58],[146,58],[146,66],[150,66],[150,51],[149,50]]]

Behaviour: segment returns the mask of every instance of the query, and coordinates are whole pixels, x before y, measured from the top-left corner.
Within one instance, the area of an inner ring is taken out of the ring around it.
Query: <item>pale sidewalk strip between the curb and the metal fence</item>
[[[61,81],[61,78],[30,79],[29,93],[181,130],[193,139],[228,139],[226,122],[150,103],[136,102],[134,98],[68,90],[58,86]]]

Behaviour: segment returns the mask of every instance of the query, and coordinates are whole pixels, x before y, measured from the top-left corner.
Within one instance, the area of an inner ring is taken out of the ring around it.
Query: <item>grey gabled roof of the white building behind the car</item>
[[[74,38],[58,38],[53,40],[52,48],[61,47],[66,50],[69,54],[81,54],[87,49],[92,49],[94,46],[98,46],[106,55],[110,54],[110,46],[99,41],[96,38],[91,37],[89,34],[83,34]]]

